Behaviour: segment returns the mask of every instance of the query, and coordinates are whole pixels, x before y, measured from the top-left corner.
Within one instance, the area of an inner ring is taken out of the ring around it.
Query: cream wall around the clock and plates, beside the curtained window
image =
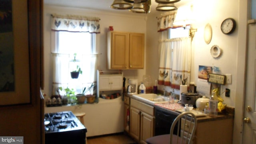
[[[191,82],[197,84],[198,66],[217,66],[221,73],[232,74],[232,84],[222,86],[230,89],[230,98],[222,94],[224,102],[229,106],[235,106],[236,95],[236,69],[238,50],[238,28],[233,34],[226,35],[220,30],[220,24],[226,18],[234,18],[238,23],[238,0],[194,0],[191,2],[194,7],[196,22],[192,27],[197,28],[197,32],[192,41],[194,47],[194,67],[192,67]],[[204,42],[204,27],[209,23],[212,26],[212,40],[210,44]],[[149,15],[147,22],[147,53],[146,53],[146,74],[152,79],[158,78],[159,57],[158,53],[158,32],[155,15]],[[218,45],[222,54],[218,58],[213,58],[210,49],[213,45]],[[159,86],[159,88],[164,88]],[[165,88],[165,89],[168,89]]]

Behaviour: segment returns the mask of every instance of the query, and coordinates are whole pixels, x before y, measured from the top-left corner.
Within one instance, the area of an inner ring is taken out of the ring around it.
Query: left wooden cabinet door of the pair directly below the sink
[[[140,140],[140,110],[130,107],[130,136]]]

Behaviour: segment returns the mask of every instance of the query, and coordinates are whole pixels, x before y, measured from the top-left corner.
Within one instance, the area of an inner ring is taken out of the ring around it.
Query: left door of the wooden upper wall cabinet
[[[129,34],[112,32],[111,35],[111,63],[112,69],[128,69],[129,62]]]

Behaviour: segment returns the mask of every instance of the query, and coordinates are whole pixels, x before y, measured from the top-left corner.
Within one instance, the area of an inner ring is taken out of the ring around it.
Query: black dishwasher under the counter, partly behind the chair
[[[170,134],[172,122],[178,115],[168,112],[168,110],[161,110],[155,107],[155,136],[162,134]],[[177,134],[177,126],[174,128],[174,134]]]

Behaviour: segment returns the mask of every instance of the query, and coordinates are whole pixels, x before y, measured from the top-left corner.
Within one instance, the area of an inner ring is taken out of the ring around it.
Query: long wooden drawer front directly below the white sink
[[[138,100],[130,99],[130,105],[134,108],[138,108],[139,110],[146,112],[147,114],[150,114],[154,116],[154,107],[149,106],[147,104],[144,104],[143,102],[139,102]]]

